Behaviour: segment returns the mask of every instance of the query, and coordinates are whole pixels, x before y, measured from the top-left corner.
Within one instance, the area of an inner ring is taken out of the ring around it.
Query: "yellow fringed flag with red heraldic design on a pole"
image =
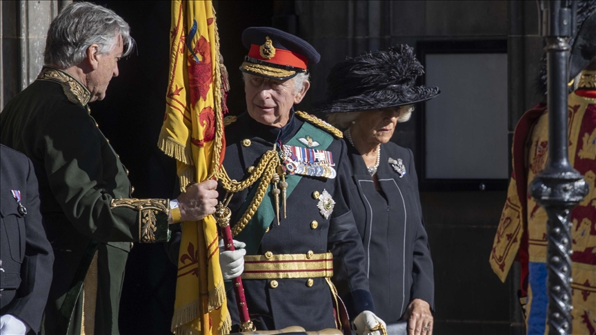
[[[221,67],[211,1],[172,1],[166,117],[158,146],[177,160],[182,190],[211,178],[223,157]],[[172,332],[229,334],[215,219],[183,222],[182,232]]]

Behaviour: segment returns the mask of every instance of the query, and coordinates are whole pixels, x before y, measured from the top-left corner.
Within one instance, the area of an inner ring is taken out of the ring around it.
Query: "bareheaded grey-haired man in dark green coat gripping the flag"
[[[118,334],[131,242],[167,241],[168,223],[215,212],[215,181],[190,185],[175,201],[131,199],[128,171],[89,114],[132,51],[129,32],[111,10],[66,6],[48,31],[46,66],[0,114],[1,143],[33,163],[54,250],[42,334]]]

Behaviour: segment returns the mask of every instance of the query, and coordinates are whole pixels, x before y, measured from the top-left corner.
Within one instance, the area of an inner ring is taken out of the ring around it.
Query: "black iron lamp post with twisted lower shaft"
[[[539,1],[548,69],[548,162],[530,194],[548,214],[546,250],[548,334],[572,334],[570,211],[588,194],[582,174],[569,165],[567,137],[568,37],[575,30],[575,1]]]

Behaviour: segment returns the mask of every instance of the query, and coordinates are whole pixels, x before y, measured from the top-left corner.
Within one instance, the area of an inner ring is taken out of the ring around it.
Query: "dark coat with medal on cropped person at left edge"
[[[0,314],[20,318],[34,332],[46,307],[54,262],[41,224],[37,187],[27,156],[0,145]],[[21,192],[25,215],[11,190]]]

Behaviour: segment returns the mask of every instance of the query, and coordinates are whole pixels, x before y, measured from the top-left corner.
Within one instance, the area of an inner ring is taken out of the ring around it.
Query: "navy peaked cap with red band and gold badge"
[[[308,73],[308,65],[321,59],[319,52],[304,39],[271,27],[246,28],[242,32],[242,44],[248,49],[248,56],[240,70],[272,79]]]

